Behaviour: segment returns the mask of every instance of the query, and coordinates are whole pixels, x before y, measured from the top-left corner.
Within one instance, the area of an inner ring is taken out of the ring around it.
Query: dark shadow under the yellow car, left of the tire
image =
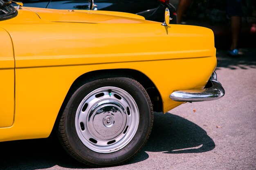
[[[91,168],[72,159],[51,135],[45,139],[0,142],[0,170],[35,170],[52,168]]]

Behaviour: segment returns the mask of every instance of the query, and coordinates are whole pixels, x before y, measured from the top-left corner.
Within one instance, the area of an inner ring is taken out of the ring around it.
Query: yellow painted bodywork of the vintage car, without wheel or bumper
[[[165,113],[184,103],[172,92],[203,89],[216,68],[208,28],[162,26],[130,13],[16,10],[0,21],[0,142],[48,137],[81,77],[119,73],[150,82],[159,93],[150,99],[161,102],[153,108]]]

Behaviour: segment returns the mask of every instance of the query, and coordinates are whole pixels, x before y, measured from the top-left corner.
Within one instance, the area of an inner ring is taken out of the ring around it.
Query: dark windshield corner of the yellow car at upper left
[[[3,6],[3,4],[6,2],[10,2],[10,1],[9,0],[7,0],[7,1],[0,0],[0,21],[8,20],[8,19],[16,17],[16,15],[18,15],[18,11],[11,4]],[[7,12],[7,13],[5,13],[5,12]]]

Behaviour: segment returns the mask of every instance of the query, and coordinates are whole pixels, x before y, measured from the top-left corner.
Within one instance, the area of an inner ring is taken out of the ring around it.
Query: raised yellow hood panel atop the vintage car
[[[24,7],[25,8],[25,7]],[[43,8],[26,8],[34,11],[42,20],[51,22],[79,22],[79,23],[152,23],[144,17],[123,12],[91,11],[91,10],[56,10]]]

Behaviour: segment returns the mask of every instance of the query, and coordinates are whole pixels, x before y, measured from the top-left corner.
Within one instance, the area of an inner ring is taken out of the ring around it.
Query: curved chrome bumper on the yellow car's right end
[[[192,90],[180,90],[170,94],[170,98],[178,102],[200,102],[217,100],[224,96],[225,90],[217,81],[217,74],[213,72],[208,83],[212,83],[212,86],[206,89],[192,89]],[[208,84],[207,83],[207,84]]]

